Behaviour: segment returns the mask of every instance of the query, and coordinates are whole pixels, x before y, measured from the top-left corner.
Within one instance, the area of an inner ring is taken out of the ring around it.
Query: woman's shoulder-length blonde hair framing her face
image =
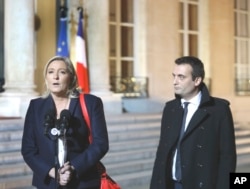
[[[78,88],[77,75],[76,75],[74,65],[72,64],[71,60],[68,57],[63,57],[63,56],[52,57],[44,67],[44,70],[43,70],[44,80],[46,81],[46,75],[47,75],[47,71],[48,71],[48,67],[49,67],[50,63],[52,63],[56,60],[63,61],[67,67],[68,73],[70,74],[70,82],[69,82],[69,88],[67,91],[67,95],[70,97],[77,97],[79,95],[79,91],[77,89]],[[47,97],[50,94],[50,90],[48,89],[46,82],[45,82],[45,86],[46,86],[46,91],[44,92],[43,96]]]

